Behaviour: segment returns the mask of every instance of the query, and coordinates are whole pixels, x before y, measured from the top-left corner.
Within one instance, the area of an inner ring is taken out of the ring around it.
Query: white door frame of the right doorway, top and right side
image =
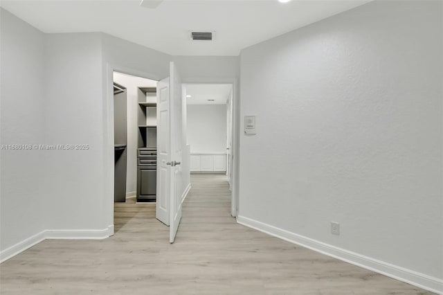
[[[233,85],[233,166],[230,215],[237,217],[239,211],[239,81],[235,78],[183,78],[183,84],[232,84]]]

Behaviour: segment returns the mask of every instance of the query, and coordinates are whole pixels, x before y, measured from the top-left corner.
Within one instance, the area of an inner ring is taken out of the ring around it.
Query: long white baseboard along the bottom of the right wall
[[[248,217],[238,216],[237,222],[244,226],[248,226],[251,229],[262,231],[263,233],[273,235],[276,238],[298,244],[302,247],[320,252],[338,260],[351,263],[352,265],[375,271],[379,274],[383,274],[384,276],[401,280],[404,283],[408,283],[437,294],[443,294],[443,280],[439,278],[421,274],[417,271],[405,269],[404,267],[399,267],[397,265],[391,265],[390,263],[370,258],[368,256],[363,256],[359,253],[347,251],[345,249],[313,240],[296,233],[291,233],[290,231],[285,231],[284,229],[279,229],[278,227],[271,226],[269,224],[264,224],[263,222],[259,222],[257,220],[252,220]]]

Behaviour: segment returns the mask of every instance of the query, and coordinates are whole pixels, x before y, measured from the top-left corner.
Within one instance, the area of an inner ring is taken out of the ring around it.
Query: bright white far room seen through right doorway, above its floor
[[[193,175],[224,175],[233,202],[233,84],[184,84]],[[231,208],[232,208],[231,204]],[[230,215],[231,208],[226,208]]]

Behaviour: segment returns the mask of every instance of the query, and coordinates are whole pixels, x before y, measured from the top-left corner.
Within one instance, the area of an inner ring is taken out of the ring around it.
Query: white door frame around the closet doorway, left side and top
[[[103,93],[105,93],[103,98],[103,125],[105,130],[103,139],[103,150],[105,151],[103,160],[103,191],[105,195],[103,216],[105,216],[105,224],[109,229],[108,234],[111,236],[114,235],[114,71],[155,81],[165,77],[109,63],[106,66],[106,71],[106,81],[103,83],[105,88],[103,89]]]

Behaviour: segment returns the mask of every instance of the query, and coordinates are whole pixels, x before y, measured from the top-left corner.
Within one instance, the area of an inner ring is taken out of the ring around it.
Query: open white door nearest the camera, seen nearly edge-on
[[[181,220],[182,173],[181,173],[181,78],[174,62],[170,63],[170,236],[173,243]]]

